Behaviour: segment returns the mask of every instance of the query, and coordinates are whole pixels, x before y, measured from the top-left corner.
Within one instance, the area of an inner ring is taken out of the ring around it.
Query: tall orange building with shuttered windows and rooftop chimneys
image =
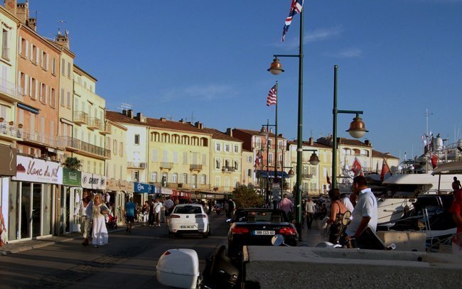
[[[16,121],[23,127],[18,152],[55,159],[58,136],[60,50],[36,32],[36,19],[28,18],[28,5],[18,4],[18,104]]]

